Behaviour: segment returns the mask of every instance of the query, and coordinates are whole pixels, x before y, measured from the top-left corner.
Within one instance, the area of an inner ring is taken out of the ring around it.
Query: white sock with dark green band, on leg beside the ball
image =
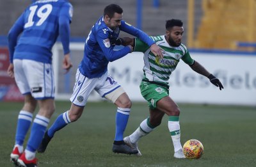
[[[178,121],[177,120],[170,121],[170,116],[169,116],[169,121],[168,121],[168,128],[172,136],[174,152],[177,152],[178,150],[182,149],[182,146],[180,144],[180,122],[179,122],[179,118],[177,119]],[[171,120],[173,119],[171,118]]]

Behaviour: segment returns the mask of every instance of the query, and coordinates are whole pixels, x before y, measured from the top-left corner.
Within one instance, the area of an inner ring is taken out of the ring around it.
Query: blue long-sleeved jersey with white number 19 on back
[[[73,8],[67,0],[40,0],[31,3],[10,29],[10,62],[28,59],[51,63],[52,46],[60,35],[64,54],[69,51]],[[19,34],[19,40],[17,40]]]

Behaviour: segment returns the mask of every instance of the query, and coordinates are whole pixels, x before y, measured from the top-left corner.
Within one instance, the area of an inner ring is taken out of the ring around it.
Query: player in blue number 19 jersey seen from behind
[[[8,74],[15,77],[20,92],[25,96],[18,116],[15,146],[10,155],[11,161],[17,166],[36,166],[35,152],[55,109],[51,49],[58,36],[65,54],[63,68],[69,70],[72,67],[69,54],[72,11],[72,5],[66,0],[35,1],[20,15],[8,34]],[[39,111],[24,150],[24,138],[37,102]]]

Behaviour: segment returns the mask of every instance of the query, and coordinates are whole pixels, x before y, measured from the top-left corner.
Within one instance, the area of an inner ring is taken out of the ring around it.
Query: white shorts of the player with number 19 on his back
[[[51,64],[15,59],[13,66],[20,93],[31,93],[36,100],[54,98],[55,84]]]

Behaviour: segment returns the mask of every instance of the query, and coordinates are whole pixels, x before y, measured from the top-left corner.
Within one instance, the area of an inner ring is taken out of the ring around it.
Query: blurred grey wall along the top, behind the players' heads
[[[148,35],[163,35],[164,24],[168,19],[181,19],[184,22],[184,38],[186,44],[188,33],[188,0],[159,0],[159,8],[153,7],[153,0],[143,1],[142,30]],[[201,1],[195,1],[195,32],[202,16]],[[0,35],[7,35],[12,24],[24,11],[31,0],[1,0]],[[71,24],[72,36],[87,36],[93,24],[103,14],[104,7],[111,3],[119,4],[124,9],[124,20],[136,26],[136,0],[70,0],[74,7]],[[121,34],[125,36],[125,34]]]

